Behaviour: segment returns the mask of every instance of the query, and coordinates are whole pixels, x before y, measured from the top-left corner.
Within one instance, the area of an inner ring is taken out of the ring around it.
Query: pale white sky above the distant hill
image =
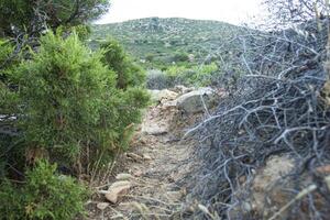
[[[111,8],[96,23],[113,23],[150,16],[249,22],[262,12],[262,0],[111,0]]]

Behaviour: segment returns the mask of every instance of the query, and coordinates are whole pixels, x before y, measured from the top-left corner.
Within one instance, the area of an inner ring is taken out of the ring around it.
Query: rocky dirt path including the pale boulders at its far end
[[[211,105],[209,89],[191,90],[151,91],[156,105],[146,111],[130,152],[118,158],[109,186],[89,202],[89,219],[180,219],[186,188],[176,183],[190,170],[194,151],[194,141],[182,136],[205,114],[201,106]]]

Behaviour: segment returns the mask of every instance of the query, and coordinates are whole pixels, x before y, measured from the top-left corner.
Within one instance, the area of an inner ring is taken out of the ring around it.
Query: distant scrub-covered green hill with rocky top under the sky
[[[219,21],[148,18],[92,25],[90,44],[97,46],[111,35],[141,62],[167,64],[189,55],[198,63],[243,30]]]

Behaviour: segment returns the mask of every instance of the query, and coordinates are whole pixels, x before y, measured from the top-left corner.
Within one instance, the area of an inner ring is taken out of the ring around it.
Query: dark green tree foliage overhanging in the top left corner
[[[108,8],[108,0],[0,0],[0,36],[14,36],[16,31],[38,34],[44,23],[52,29],[79,25],[99,18]]]

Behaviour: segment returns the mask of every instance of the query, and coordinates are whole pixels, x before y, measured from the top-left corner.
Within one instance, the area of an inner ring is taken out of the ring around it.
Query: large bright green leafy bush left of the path
[[[28,148],[46,148],[53,160],[73,164],[78,157],[87,163],[80,156],[86,147],[91,150],[86,157],[97,161],[122,146],[125,128],[140,121],[148,96],[117,89],[117,74],[100,62],[102,55],[76,34],[63,40],[48,33],[33,59],[15,69]]]

